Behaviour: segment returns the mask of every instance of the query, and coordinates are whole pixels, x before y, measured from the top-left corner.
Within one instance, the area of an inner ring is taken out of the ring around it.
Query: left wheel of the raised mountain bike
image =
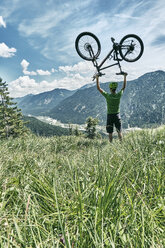
[[[90,61],[96,59],[101,52],[99,39],[90,32],[83,32],[77,36],[75,48],[81,58]]]

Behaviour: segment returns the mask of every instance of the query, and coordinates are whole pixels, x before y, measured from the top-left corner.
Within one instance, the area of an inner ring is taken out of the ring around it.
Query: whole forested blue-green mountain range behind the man
[[[109,83],[101,83],[109,91]],[[119,89],[122,82],[119,82]],[[105,125],[106,101],[91,84],[75,91],[55,89],[38,95],[15,98],[24,115],[45,115],[63,123],[84,124],[87,117]],[[165,72],[154,71],[127,82],[121,98],[123,127],[147,126],[165,122]]]

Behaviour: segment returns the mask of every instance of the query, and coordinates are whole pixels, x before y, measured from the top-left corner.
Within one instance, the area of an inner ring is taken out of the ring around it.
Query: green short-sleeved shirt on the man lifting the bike
[[[120,90],[118,93],[109,94],[105,91],[102,92],[102,95],[107,101],[107,114],[117,114],[120,112],[120,98],[123,94],[123,90]]]

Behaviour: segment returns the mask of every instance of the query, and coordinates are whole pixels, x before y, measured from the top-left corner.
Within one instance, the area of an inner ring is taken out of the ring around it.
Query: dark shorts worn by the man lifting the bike
[[[116,127],[117,132],[121,132],[121,119],[119,114],[107,114],[107,133],[113,133],[113,127]]]

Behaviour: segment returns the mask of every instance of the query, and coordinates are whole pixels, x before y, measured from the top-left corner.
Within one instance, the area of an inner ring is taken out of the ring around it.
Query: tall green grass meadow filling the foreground
[[[165,128],[0,141],[0,247],[163,248]]]

